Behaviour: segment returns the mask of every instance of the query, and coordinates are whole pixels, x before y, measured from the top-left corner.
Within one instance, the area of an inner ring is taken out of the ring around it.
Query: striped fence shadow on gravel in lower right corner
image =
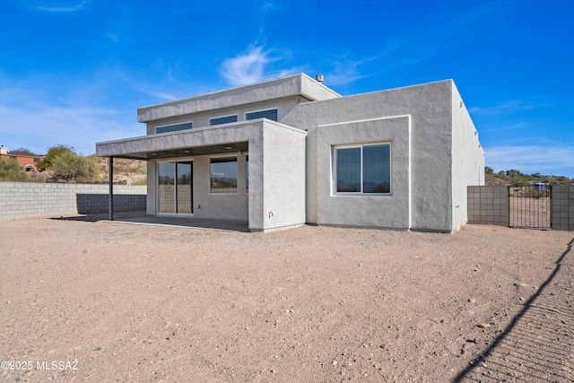
[[[509,326],[453,382],[574,381],[573,245],[574,239]]]

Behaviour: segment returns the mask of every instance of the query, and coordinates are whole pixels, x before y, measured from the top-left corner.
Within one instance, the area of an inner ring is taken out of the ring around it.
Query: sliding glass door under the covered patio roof
[[[193,161],[158,163],[158,213],[194,213],[193,169]]]

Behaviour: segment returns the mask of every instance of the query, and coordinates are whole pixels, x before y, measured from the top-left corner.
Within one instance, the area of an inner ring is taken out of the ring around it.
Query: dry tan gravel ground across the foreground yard
[[[0,238],[2,381],[574,379],[572,232],[25,220]]]

